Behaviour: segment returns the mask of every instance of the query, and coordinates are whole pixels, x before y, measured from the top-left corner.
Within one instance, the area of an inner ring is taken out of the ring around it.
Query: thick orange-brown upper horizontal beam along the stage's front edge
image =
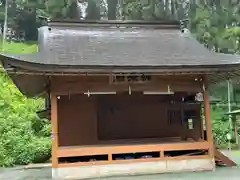
[[[161,152],[161,151],[181,151],[181,150],[209,150],[208,142],[181,142],[181,143],[153,143],[140,145],[96,145],[96,146],[74,146],[60,147],[57,156],[74,157],[74,156],[94,156],[108,154],[125,154],[141,152]]]

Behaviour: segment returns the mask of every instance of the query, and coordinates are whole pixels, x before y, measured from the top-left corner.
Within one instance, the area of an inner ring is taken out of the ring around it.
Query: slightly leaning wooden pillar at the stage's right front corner
[[[204,115],[205,115],[205,126],[206,126],[206,135],[207,141],[209,143],[209,155],[214,158],[214,143],[213,143],[213,134],[212,134],[212,124],[211,124],[211,116],[210,116],[210,103],[209,103],[209,93],[207,90],[207,81],[204,79],[203,81],[203,99],[204,99]]]

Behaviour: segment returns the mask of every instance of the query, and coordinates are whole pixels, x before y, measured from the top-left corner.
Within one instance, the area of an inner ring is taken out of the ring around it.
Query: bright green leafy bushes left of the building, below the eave
[[[50,123],[39,121],[42,99],[27,99],[0,75],[0,166],[47,161],[51,156]]]

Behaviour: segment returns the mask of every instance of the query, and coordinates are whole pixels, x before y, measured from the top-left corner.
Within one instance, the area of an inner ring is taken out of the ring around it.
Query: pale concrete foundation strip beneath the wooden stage
[[[52,169],[53,179],[89,179],[183,171],[215,170],[213,159],[168,160]]]

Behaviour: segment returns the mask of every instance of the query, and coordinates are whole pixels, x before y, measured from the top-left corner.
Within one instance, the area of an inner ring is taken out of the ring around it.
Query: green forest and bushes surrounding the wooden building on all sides
[[[7,6],[5,6],[7,3]],[[240,0],[0,0],[3,34],[7,7],[7,36],[1,51],[37,51],[37,29],[49,19],[88,20],[183,20],[186,27],[212,51],[240,53]],[[45,162],[51,156],[50,124],[36,111],[42,99],[27,99],[0,71],[0,166]],[[212,105],[214,136],[219,146],[227,144],[230,126],[227,82],[211,87],[218,99]],[[240,86],[231,81],[232,109],[240,107]]]

